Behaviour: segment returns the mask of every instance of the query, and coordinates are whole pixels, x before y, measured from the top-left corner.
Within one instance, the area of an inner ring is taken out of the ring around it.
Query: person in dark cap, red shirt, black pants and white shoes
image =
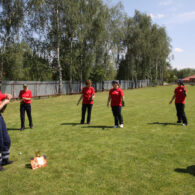
[[[123,128],[122,106],[124,104],[123,90],[120,88],[117,81],[112,81],[113,88],[109,91],[107,106],[111,101],[112,113],[115,120],[114,128]],[[118,126],[119,125],[119,126]]]

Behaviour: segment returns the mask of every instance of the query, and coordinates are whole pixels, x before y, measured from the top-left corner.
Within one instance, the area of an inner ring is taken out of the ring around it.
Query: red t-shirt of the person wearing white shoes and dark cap
[[[122,97],[124,94],[121,88],[110,89],[109,95],[111,97],[111,106],[122,106]]]

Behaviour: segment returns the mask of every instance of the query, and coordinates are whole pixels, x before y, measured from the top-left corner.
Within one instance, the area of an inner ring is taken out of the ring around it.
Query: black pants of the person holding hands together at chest
[[[32,127],[33,124],[32,124],[32,116],[31,116],[31,105],[21,103],[20,104],[21,128],[25,128],[25,111],[26,111],[27,116],[28,116],[29,126]]]

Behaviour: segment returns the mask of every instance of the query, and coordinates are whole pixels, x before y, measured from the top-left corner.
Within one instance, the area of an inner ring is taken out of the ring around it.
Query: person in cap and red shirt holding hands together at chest
[[[21,119],[21,131],[25,129],[25,111],[27,112],[29,126],[32,129],[32,116],[31,116],[31,98],[32,92],[28,89],[26,84],[23,85],[23,90],[20,91],[19,98],[20,102],[20,119]]]

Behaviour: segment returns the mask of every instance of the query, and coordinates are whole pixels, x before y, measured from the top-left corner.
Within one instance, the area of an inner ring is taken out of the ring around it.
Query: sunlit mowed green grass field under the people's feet
[[[187,86],[187,127],[168,104],[175,87],[124,91],[123,129],[110,128],[108,92],[96,94],[91,125],[79,124],[80,95],[33,100],[34,129],[24,132],[11,103],[4,118],[14,164],[0,172],[0,194],[194,194],[195,87]],[[26,167],[36,150],[48,167]]]

